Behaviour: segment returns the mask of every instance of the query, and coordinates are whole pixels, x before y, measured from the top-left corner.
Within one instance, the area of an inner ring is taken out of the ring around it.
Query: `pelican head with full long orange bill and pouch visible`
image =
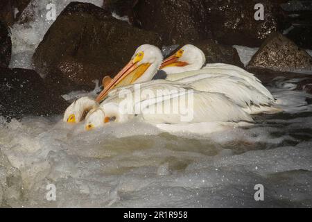
[[[98,95],[96,101],[102,101],[114,87],[152,80],[160,65],[162,65],[162,60],[162,51],[156,46],[150,44],[139,46],[130,62],[107,84],[107,87]]]

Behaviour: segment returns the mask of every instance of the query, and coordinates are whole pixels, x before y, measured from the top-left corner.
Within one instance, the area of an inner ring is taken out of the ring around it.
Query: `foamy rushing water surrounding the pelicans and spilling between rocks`
[[[31,67],[51,25],[40,16],[46,2],[34,0],[35,20],[12,28],[12,67]],[[235,47],[244,63],[255,52]],[[0,117],[0,207],[312,207],[312,96],[295,91],[297,81],[269,87],[283,113],[207,135],[136,121],[85,133],[60,116]],[[257,184],[264,201],[254,200]]]

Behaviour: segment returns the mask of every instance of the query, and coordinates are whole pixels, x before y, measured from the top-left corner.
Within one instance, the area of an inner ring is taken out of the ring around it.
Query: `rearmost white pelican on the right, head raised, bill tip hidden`
[[[162,63],[167,80],[189,83],[195,89],[224,93],[246,112],[280,112],[272,94],[248,71],[223,63],[207,64],[205,55],[193,45],[183,46]],[[201,69],[202,68],[202,69]]]

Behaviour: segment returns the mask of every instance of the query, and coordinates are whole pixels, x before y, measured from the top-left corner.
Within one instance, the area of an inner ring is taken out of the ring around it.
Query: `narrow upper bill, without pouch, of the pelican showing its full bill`
[[[114,89],[116,85],[118,85],[123,78],[128,76],[132,71],[137,69],[137,63],[133,63],[132,60],[119,71],[119,73],[110,81],[110,84],[108,84],[105,89],[101,92],[101,94],[98,95],[96,98],[97,102],[101,102],[105,96],[110,92],[111,89]]]

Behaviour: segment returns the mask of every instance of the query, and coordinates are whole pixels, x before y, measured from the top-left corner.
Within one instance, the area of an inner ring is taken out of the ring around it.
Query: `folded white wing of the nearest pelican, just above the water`
[[[248,113],[223,94],[193,91],[171,96],[146,105],[142,119],[151,123],[252,121]]]

